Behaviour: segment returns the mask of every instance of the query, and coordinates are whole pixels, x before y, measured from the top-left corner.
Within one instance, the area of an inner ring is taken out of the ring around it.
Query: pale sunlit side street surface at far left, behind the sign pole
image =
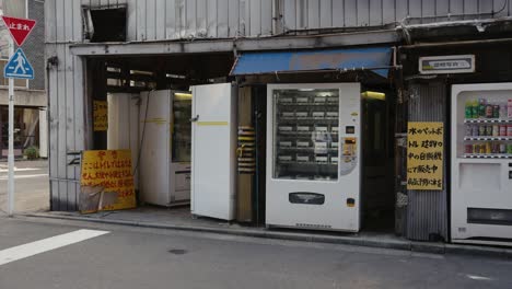
[[[0,163],[0,216],[7,211],[7,162]],[[46,161],[18,161],[14,170],[14,209],[38,211],[49,209],[49,181]]]

